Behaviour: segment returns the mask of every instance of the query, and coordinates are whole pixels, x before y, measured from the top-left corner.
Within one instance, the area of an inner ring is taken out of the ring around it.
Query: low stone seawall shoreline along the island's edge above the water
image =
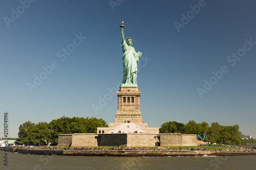
[[[8,148],[8,152],[31,155],[62,155],[62,156],[245,156],[256,155],[256,152],[215,152],[215,151],[158,151],[158,150],[36,150]]]

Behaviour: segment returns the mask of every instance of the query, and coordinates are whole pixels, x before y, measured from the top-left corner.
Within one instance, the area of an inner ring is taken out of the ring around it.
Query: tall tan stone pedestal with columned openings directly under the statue
[[[115,123],[141,124],[140,91],[138,87],[119,87]]]

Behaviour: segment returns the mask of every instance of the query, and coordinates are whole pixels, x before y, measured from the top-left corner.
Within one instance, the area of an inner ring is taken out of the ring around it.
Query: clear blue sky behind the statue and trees
[[[121,21],[142,52],[137,82],[148,127],[218,122],[256,137],[255,1],[21,2],[0,2],[0,121],[3,129],[8,112],[9,137],[28,120],[114,123],[117,96],[108,88],[122,80]],[[34,75],[44,80],[36,85]]]

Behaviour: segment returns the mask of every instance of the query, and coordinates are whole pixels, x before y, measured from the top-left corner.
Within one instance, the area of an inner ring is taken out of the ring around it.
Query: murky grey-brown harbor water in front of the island
[[[255,169],[256,156],[110,157],[29,155],[0,151],[0,169]]]

